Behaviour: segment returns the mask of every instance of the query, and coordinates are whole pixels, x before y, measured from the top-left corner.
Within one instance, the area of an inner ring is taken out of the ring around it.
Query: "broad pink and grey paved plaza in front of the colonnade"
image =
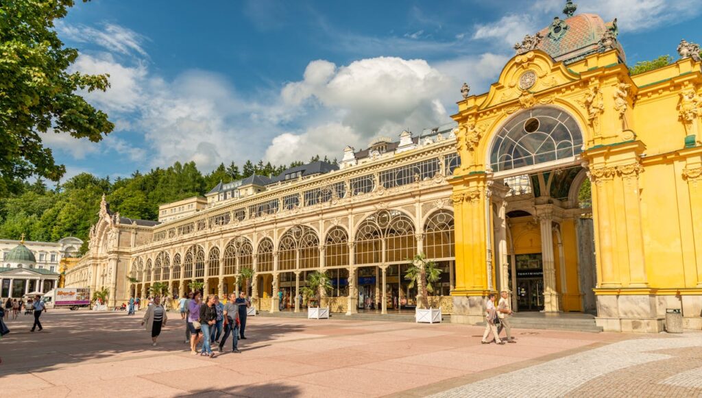
[[[482,328],[253,317],[241,354],[191,355],[183,321],[152,347],[140,317],[51,311],[8,321],[4,396],[27,397],[620,397],[702,396],[702,334],[516,330],[481,345]]]

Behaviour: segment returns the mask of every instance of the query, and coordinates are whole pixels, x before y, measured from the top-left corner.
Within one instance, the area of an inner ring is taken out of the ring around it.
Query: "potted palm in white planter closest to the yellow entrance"
[[[417,286],[417,308],[415,321],[430,324],[442,321],[441,307],[429,307],[429,293],[434,292],[434,284],[441,279],[442,270],[437,263],[427,260],[423,254],[414,256],[409,268],[404,274],[404,279],[409,281],[409,288]]]

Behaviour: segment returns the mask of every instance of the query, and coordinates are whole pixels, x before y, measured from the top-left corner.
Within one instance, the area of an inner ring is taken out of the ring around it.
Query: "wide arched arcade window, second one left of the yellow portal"
[[[417,251],[414,224],[397,210],[378,211],[359,226],[356,233],[356,264],[404,263]]]

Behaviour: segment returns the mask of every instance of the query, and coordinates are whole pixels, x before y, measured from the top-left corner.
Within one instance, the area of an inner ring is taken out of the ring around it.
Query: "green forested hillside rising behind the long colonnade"
[[[319,156],[310,159],[317,160]],[[48,187],[41,179],[23,183],[17,194],[0,199],[0,239],[19,239],[24,233],[33,241],[56,241],[69,235],[86,241],[88,229],[98,219],[103,193],[112,211],[124,217],[157,220],[160,204],[204,195],[220,180],[229,183],[253,173],[276,175],[300,164],[303,162],[276,166],[246,161],[240,170],[232,162],[203,174],[194,162],[176,162],[148,173],[135,171],[130,178],[111,180],[81,173],[56,187]]]

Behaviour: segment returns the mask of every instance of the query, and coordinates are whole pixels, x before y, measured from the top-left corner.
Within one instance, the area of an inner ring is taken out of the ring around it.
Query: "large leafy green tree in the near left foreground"
[[[67,72],[78,51],[63,46],[54,23],[73,5],[14,0],[0,8],[0,196],[15,192],[15,181],[30,175],[58,181],[65,173],[42,134],[98,142],[114,128],[107,114],[77,93],[105,91],[107,74]]]

